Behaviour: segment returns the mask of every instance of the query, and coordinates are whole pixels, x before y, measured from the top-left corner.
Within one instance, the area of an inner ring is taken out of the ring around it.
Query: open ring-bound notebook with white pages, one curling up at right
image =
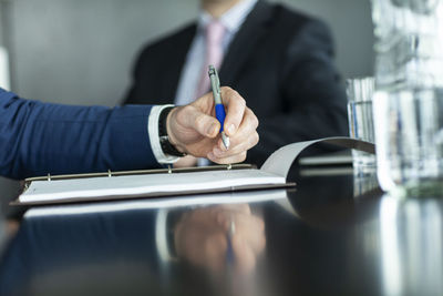
[[[25,191],[11,204],[110,201],[295,186],[286,183],[292,162],[302,150],[318,142],[354,147],[360,141],[334,137],[290,144],[270,155],[259,170],[240,164],[29,178]],[[373,145],[364,151],[373,153]]]

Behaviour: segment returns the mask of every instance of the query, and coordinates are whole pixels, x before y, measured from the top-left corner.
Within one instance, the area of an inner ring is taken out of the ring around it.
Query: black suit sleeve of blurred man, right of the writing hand
[[[249,161],[257,164],[291,142],[348,134],[344,86],[326,24],[305,23],[290,41],[280,69],[284,109],[260,122],[260,143],[249,153]]]

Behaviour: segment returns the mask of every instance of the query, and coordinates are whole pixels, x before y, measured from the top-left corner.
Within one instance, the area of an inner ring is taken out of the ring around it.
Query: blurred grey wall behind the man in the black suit
[[[330,24],[344,78],[372,74],[370,0],[280,2]],[[0,44],[10,53],[11,89],[48,102],[114,105],[127,89],[140,48],[194,19],[197,3],[0,0]],[[0,180],[0,192],[11,184]]]

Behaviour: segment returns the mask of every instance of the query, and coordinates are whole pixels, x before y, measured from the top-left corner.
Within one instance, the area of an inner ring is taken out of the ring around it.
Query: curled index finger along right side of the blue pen
[[[224,86],[220,89],[222,100],[226,108],[224,130],[228,136],[233,136],[241,124],[246,101],[235,90]]]

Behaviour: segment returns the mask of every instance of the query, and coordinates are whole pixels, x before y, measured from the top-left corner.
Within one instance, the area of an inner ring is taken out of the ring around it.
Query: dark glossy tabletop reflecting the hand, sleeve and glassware
[[[295,191],[182,205],[29,211],[4,247],[0,294],[443,295],[441,200],[383,195],[351,167],[293,167],[289,181]]]

